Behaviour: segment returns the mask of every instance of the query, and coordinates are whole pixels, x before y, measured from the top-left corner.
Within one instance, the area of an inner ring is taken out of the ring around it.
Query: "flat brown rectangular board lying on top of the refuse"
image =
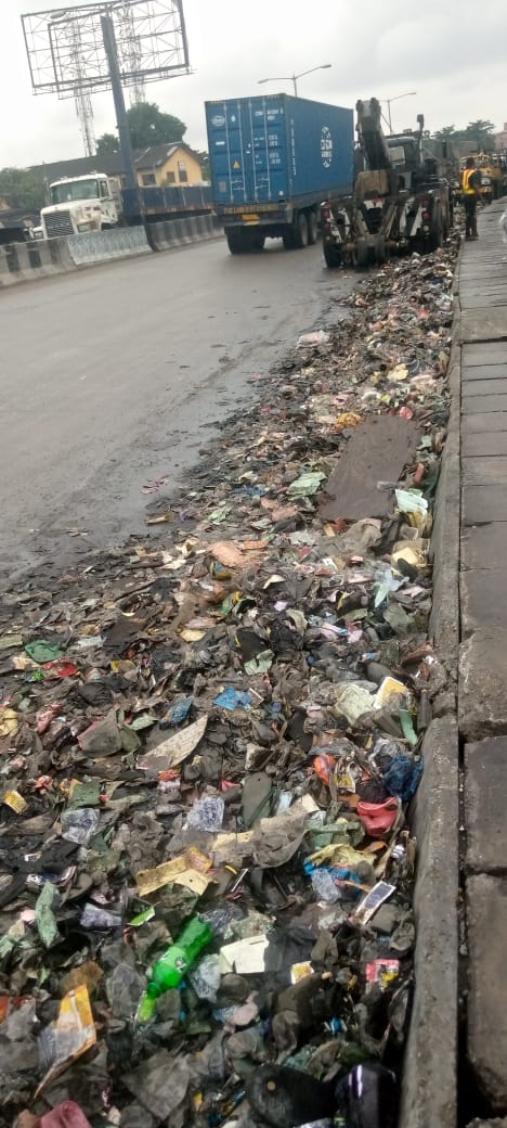
[[[417,424],[410,420],[380,415],[359,424],[323,486],[322,520],[358,521],[388,513],[392,493],[379,488],[379,483],[398,482],[418,442]]]

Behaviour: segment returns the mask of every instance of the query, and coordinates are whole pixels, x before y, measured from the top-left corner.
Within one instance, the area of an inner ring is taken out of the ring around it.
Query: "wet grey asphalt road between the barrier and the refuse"
[[[180,481],[353,283],[318,247],[231,257],[216,240],[2,291],[2,573],[145,531],[143,487]]]

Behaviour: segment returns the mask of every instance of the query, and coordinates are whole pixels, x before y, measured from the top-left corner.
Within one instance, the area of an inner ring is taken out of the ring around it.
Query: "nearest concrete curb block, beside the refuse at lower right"
[[[459,761],[455,717],[433,721],[412,811],[416,987],[400,1128],[455,1128],[457,1117]]]

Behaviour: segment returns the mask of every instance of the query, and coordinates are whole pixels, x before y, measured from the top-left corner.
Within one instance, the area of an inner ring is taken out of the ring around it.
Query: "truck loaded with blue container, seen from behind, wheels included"
[[[315,243],[322,200],[350,191],[354,114],[286,94],[206,103],[213,202],[231,254]]]

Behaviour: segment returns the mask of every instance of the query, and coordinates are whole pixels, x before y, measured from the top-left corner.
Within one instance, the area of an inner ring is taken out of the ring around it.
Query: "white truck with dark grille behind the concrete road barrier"
[[[105,231],[121,222],[122,203],[116,182],[105,173],[68,177],[50,186],[51,204],[41,212],[43,238]]]

